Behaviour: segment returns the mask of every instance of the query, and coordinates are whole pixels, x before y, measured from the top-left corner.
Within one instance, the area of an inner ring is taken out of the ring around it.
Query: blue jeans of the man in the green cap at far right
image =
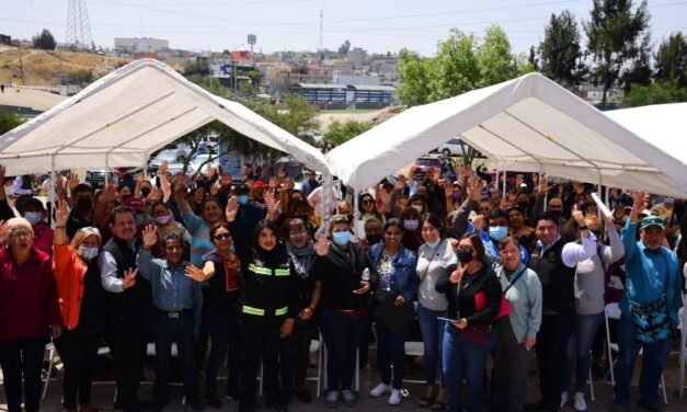
[[[649,404],[659,402],[659,384],[665,368],[671,350],[671,340],[663,340],[650,344],[637,341],[632,320],[625,316],[618,322],[618,359],[616,366],[616,386],[614,393],[616,403],[630,401],[630,384],[634,360],[640,350],[642,352],[642,373],[639,378],[640,399]]]

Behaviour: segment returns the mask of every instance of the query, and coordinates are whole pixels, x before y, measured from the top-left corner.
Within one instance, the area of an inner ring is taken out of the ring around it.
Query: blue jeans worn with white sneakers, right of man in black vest
[[[570,388],[573,365],[575,365],[575,391],[584,391],[589,376],[589,350],[592,350],[594,337],[603,321],[604,312],[577,314],[577,319],[573,323],[572,334],[568,341],[568,357],[565,358],[561,392],[566,392],[568,388]]]

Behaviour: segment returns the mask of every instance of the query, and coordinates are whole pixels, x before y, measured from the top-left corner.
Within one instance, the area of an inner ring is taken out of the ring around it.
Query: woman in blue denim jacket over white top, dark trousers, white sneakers
[[[399,219],[389,219],[383,226],[383,240],[370,251],[370,260],[379,274],[379,283],[374,290],[373,306],[393,301],[393,305],[412,305],[417,291],[415,266],[417,255],[401,244],[403,225]],[[401,384],[403,381],[403,331],[394,332],[381,320],[375,319],[377,329],[377,367],[381,373],[381,382],[371,391],[374,398],[390,393],[389,404],[401,403]],[[393,382],[391,381],[393,365]]]

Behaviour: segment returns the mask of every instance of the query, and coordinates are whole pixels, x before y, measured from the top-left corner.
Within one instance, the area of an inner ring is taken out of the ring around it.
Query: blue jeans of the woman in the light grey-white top
[[[442,367],[442,352],[444,345],[444,329],[446,321],[437,318],[446,318],[446,310],[432,310],[417,305],[417,322],[424,341],[424,374],[427,385],[436,385],[437,364]],[[442,376],[442,386],[445,379]]]

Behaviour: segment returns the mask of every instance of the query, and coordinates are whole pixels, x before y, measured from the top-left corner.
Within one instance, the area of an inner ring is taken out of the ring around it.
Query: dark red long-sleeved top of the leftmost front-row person
[[[21,266],[0,249],[0,340],[45,336],[62,324],[50,258],[33,248]]]

